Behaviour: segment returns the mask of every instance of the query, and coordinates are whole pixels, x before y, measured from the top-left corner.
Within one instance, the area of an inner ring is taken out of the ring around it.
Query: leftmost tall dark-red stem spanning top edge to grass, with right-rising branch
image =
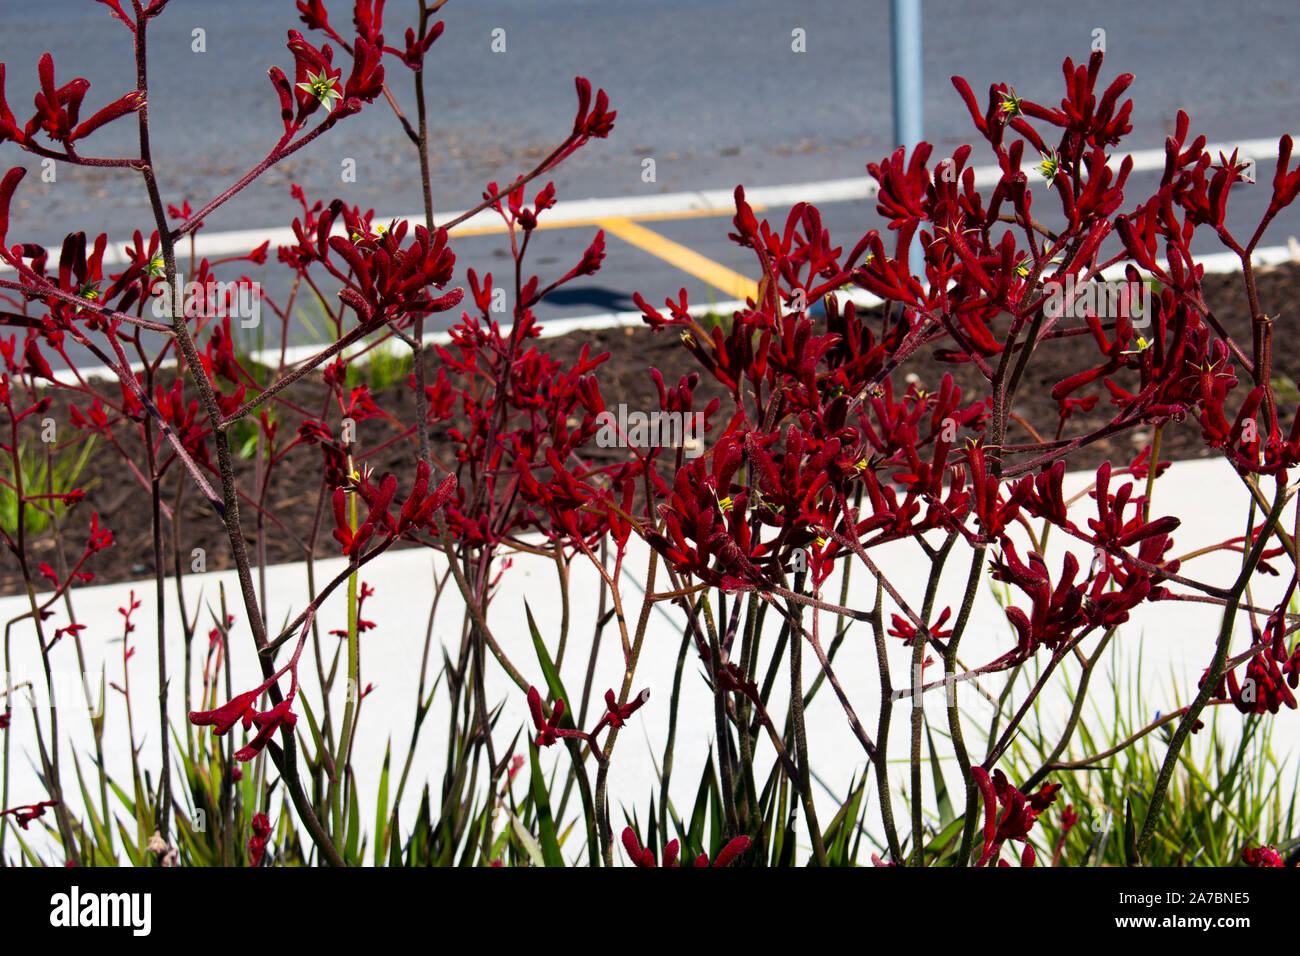
[[[143,7],[139,0],[131,0],[135,9],[135,72],[136,72],[136,87],[142,92],[148,90],[148,44],[147,44],[147,27],[148,17],[144,13]],[[164,274],[169,289],[176,289],[177,278],[177,265],[176,265],[176,246],[174,241],[183,235],[187,230],[182,229],[178,234],[173,235],[166,228],[166,208],[162,203],[162,195],[159,190],[157,177],[153,170],[153,161],[151,157],[150,146],[150,122],[148,122],[148,103],[139,109],[136,113],[136,120],[139,122],[139,138],[140,138],[140,160],[144,164],[140,170],[144,177],[144,186],[148,191],[150,204],[153,209],[153,221],[157,224],[159,239],[162,251]],[[324,131],[329,121],[321,124],[313,131],[318,135]],[[299,142],[298,147],[304,146],[311,142],[315,135],[304,137]],[[295,148],[298,148],[295,147]],[[280,159],[287,156],[289,152],[283,152]],[[273,153],[274,155],[274,153]],[[265,166],[260,166],[256,172],[260,174]],[[190,230],[198,226],[207,212],[226,202],[230,196],[243,189],[252,178],[246,177],[247,181],[240,181],[237,187],[226,190],[218,200],[213,200],[205,207],[205,211],[199,216],[192,217],[187,224]],[[194,372],[195,386],[199,392],[199,401],[203,406],[204,412],[208,416],[209,427],[213,432],[213,440],[217,446],[217,464],[221,473],[221,492],[224,498],[224,511],[222,522],[226,527],[226,537],[230,541],[230,550],[234,558],[235,570],[239,578],[239,589],[243,597],[244,611],[247,614],[248,626],[252,628],[254,643],[257,650],[266,645],[266,628],[263,622],[261,610],[257,602],[257,594],[254,587],[252,575],[250,572],[248,550],[244,544],[243,529],[239,525],[239,496],[235,484],[234,464],[230,457],[230,441],[224,431],[221,431],[221,408],[217,405],[216,395],[212,388],[212,382],[203,371],[203,363],[199,359],[198,349],[194,346],[194,339],[190,337],[190,329],[186,325],[183,313],[173,316],[172,319],[173,329],[176,332],[176,339],[179,343],[181,352],[185,356],[186,364]],[[127,380],[134,381],[134,376],[127,372]],[[261,663],[263,675],[265,678],[272,676],[272,665],[268,659],[263,658],[259,653],[259,661]],[[273,705],[282,702],[283,696],[280,692],[278,685],[270,684],[270,698]],[[303,825],[312,836],[312,842],[320,849],[321,855],[334,866],[343,866],[343,857],[339,855],[338,849],[334,847],[321,826],[320,819],[316,817],[316,810],[312,808],[311,800],[308,799],[306,791],[303,790],[302,779],[298,774],[298,745],[294,739],[294,730],[291,727],[283,727],[283,756],[280,763],[280,773],[285,780],[285,788],[289,791],[290,799],[292,800],[294,808],[298,810],[299,817],[303,819]],[[165,739],[165,737],[164,737]]]

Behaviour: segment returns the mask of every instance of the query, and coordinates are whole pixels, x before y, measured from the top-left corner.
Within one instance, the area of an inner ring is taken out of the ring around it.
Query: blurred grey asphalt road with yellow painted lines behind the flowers
[[[47,49],[60,83],[74,75],[92,82],[83,112],[133,85],[130,35],[101,5],[3,0],[0,7],[0,61],[20,121],[30,114],[36,61]],[[332,7],[335,27],[347,35],[351,4]],[[413,9],[411,1],[390,0],[390,43],[413,21]],[[549,152],[572,124],[578,74],[608,91],[619,116],[610,139],[594,140],[558,170],[562,200],[642,200],[729,193],[737,183],[753,189],[864,177],[864,164],[893,146],[887,0],[451,0],[441,17],[447,29],[428,70],[438,211],[472,206],[489,181],[507,182]],[[173,0],[153,21],[151,114],[168,202],[200,206],[278,138],[266,69],[278,64],[291,73],[289,29],[304,29],[291,0]],[[1054,104],[1062,95],[1061,61],[1086,60],[1096,29],[1105,30],[1108,51],[1102,85],[1122,72],[1136,74],[1126,94],[1135,104],[1128,150],[1160,148],[1179,108],[1191,114],[1193,133],[1204,131],[1210,142],[1275,144],[1279,134],[1300,127],[1300,82],[1291,69],[1300,38],[1295,0],[1232,7],[1210,0],[926,0],[927,139],[940,155],[971,142],[974,130],[952,74],[965,75],[980,99],[989,83],[1005,81],[1020,96]],[[192,49],[195,30],[204,31],[205,52]],[[504,52],[491,51],[494,30],[504,30]],[[803,31],[806,52],[792,49],[796,30]],[[395,60],[387,70],[394,94],[413,116],[410,74]],[[131,122],[100,131],[90,140],[94,152],[130,155],[133,131]],[[642,181],[647,157],[655,160],[651,183]],[[356,161],[356,182],[341,181],[347,159]],[[972,156],[976,165],[991,161],[987,151]],[[34,157],[3,147],[0,165],[18,164],[35,174],[16,196],[10,242],[57,246],[77,229],[124,241],[135,228],[151,228],[143,189],[130,173],[60,166],[57,182],[43,183]],[[1234,191],[1235,224],[1253,226],[1268,203],[1271,173],[1271,157],[1260,157],[1261,185]],[[1157,179],[1158,172],[1136,173],[1130,198],[1136,200]],[[291,182],[311,198],[341,196],[374,208],[381,221],[421,208],[413,147],[380,100],[254,183],[211,217],[205,233],[287,226],[298,212]],[[801,198],[798,190],[780,196],[785,206]],[[1054,206],[1046,196],[1039,195],[1035,212]],[[852,247],[864,230],[881,225],[874,207],[858,198],[826,203],[822,212],[832,238]],[[618,204],[602,209],[610,215]],[[772,204],[766,215],[784,220],[785,212]],[[729,226],[727,211],[642,220],[638,230],[608,237],[601,273],[567,286],[538,315],[545,321],[630,310],[632,291],[662,302],[681,286],[697,304],[733,299],[728,273],[751,276],[753,268],[748,254],[728,242]],[[541,233],[532,269],[543,281],[562,274],[597,228],[585,221]],[[1286,245],[1292,233],[1300,233],[1297,215],[1280,219],[1264,245]],[[500,233],[462,235],[454,248],[458,282],[464,267],[500,277],[508,265]],[[1218,248],[1209,242],[1201,251]],[[699,265],[698,258],[718,268],[690,268]],[[265,271],[250,267],[273,295],[285,287],[282,272],[273,258]]]

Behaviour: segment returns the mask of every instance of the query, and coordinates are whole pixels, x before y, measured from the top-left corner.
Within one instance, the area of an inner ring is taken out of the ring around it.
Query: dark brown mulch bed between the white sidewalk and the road
[[[1291,345],[1295,341],[1296,316],[1286,306],[1296,298],[1292,295],[1292,290],[1300,293],[1300,265],[1262,269],[1257,274],[1257,286],[1265,311],[1278,316],[1274,333],[1274,373],[1292,381],[1300,381],[1300,349]],[[1219,321],[1234,338],[1248,346],[1251,323],[1240,276],[1208,276],[1205,291]],[[681,376],[698,371],[694,359],[680,347],[676,336],[668,333],[656,336],[646,328],[576,332],[541,342],[541,347],[562,363],[573,362],[584,346],[590,346],[593,354],[610,352],[610,359],[601,367],[599,378],[601,392],[606,403],[611,406],[624,402],[632,408],[655,407],[655,388],[646,373],[646,368],[650,365],[663,373],[668,385],[675,385]],[[1076,358],[1080,349],[1087,356],[1082,360]],[[1095,360],[1096,347],[1091,339],[1060,339],[1052,347],[1041,349],[1027,368],[1027,378],[1020,388],[1015,411],[1046,437],[1050,437],[1057,421],[1056,402],[1048,394],[1052,385],[1066,375],[1079,371],[1084,367],[1083,362],[1095,364]],[[434,371],[436,365],[437,358],[432,356],[430,367]],[[953,373],[963,393],[967,395],[980,394],[983,377],[972,365],[940,365],[931,362],[928,356],[919,355],[901,369],[902,375],[915,372],[927,388],[936,386],[939,377],[945,371]],[[110,394],[116,394],[116,386],[109,388]],[[300,411],[282,408],[277,412],[280,434],[282,436],[281,444],[292,437],[304,414],[320,415],[326,401],[325,386],[318,380],[304,380],[290,392]],[[1239,386],[1239,392],[1244,393],[1244,385]],[[725,410],[725,395],[722,388],[708,376],[701,376],[696,407],[703,407],[715,395],[724,399],[723,407]],[[47,415],[58,423],[66,423],[69,393],[55,389],[49,397],[52,406]],[[1235,399],[1230,399],[1230,405],[1240,398],[1239,394]],[[1294,405],[1295,398],[1290,395],[1287,398],[1284,405]],[[374,401],[398,421],[415,419],[415,395],[404,381],[376,392]],[[84,402],[78,405],[84,407]],[[1110,420],[1112,414],[1113,407],[1102,398],[1091,414],[1076,415],[1070,423],[1070,433],[1104,425]],[[337,419],[338,416],[335,414],[332,418]],[[399,433],[396,425],[382,419],[361,421],[358,429],[361,447],[372,449]],[[136,431],[134,423],[126,423],[126,427],[117,431],[116,437],[122,450],[135,462],[143,462],[143,449]],[[1009,434],[1010,441],[1031,441],[1023,429],[1017,431],[1018,433]],[[1071,468],[1095,468],[1105,459],[1127,463],[1149,440],[1149,429],[1126,432],[1080,449],[1071,455],[1069,463]],[[433,442],[436,454],[441,453],[442,460],[451,462],[445,429],[433,433]],[[1208,454],[1208,450],[1201,445],[1200,428],[1195,421],[1166,425],[1161,440],[1161,459],[1204,458]],[[410,471],[410,445],[404,441],[394,442],[387,449],[370,455],[367,462],[380,472],[393,471],[403,475]],[[265,561],[268,563],[300,561],[306,555],[306,542],[311,538],[312,524],[316,520],[321,480],[320,463],[321,455],[317,451],[302,450],[300,454],[291,453],[274,470],[272,485],[265,492],[265,501],[269,511],[285,522],[285,525],[280,527],[268,522],[265,529]],[[238,473],[240,488],[252,494],[252,489],[256,488],[254,479],[256,462],[239,459]],[[101,523],[113,531],[116,546],[91,559],[88,567],[95,572],[96,583],[151,576],[153,544],[150,523],[150,493],[147,486],[124,464],[122,455],[108,447],[104,441],[99,441],[78,485],[84,488],[86,501],[78,505],[64,522],[65,532],[61,549],[65,561],[74,561],[81,554],[84,544],[84,527],[91,512],[98,511]],[[183,486],[183,492],[178,499],[177,492],[181,486]],[[183,537],[178,544],[185,570],[190,570],[190,553],[194,548],[205,550],[207,570],[229,567],[231,562],[224,528],[195,488],[187,480],[182,480],[178,466],[173,466],[166,473],[164,488],[166,505],[169,507],[178,505],[181,509]],[[244,506],[242,514],[250,551],[255,554],[256,510]],[[337,545],[330,538],[332,527],[333,518],[326,503],[315,549],[318,555],[337,554]],[[30,540],[27,557],[32,567],[43,561],[57,567],[55,548],[56,542],[49,532]],[[168,525],[164,540],[164,563],[168,571],[172,568],[172,548]],[[0,594],[18,593],[22,589],[18,562],[5,551],[0,558]]]

